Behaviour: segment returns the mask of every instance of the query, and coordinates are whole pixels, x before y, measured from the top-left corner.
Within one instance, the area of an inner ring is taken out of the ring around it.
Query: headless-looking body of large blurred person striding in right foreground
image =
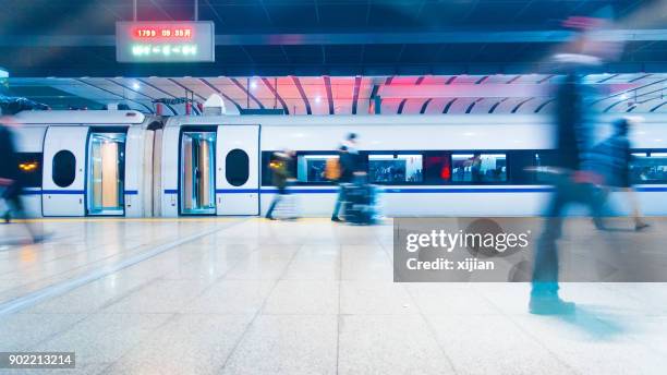
[[[574,304],[558,295],[558,247],[562,215],[573,204],[589,205],[596,225],[601,225],[602,196],[598,184],[602,179],[582,169],[587,143],[587,124],[584,109],[585,87],[574,71],[563,77],[556,93],[557,165],[555,192],[547,206],[545,229],[537,243],[533,268],[530,311],[533,314],[569,314]]]

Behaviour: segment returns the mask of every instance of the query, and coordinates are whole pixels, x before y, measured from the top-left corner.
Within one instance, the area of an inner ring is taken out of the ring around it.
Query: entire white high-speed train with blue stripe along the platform
[[[631,132],[631,170],[646,215],[667,214],[666,120],[647,114]],[[359,135],[369,181],[381,188],[387,216],[532,216],[543,211],[550,188],[526,167],[556,157],[546,116],[157,119],[133,111],[51,111],[13,121],[22,124],[23,159],[43,165],[27,192],[32,214],[47,217],[263,215],[277,192],[268,164],[282,149],[296,152],[290,191],[300,214],[328,216],[337,186],[324,179],[324,167],[351,132]],[[599,128],[602,140],[609,130]],[[481,159],[475,176],[473,158]],[[623,213],[624,199],[613,199]]]

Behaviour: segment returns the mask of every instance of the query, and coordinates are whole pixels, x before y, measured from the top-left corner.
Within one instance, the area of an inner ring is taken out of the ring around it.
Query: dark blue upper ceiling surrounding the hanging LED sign
[[[0,66],[19,77],[530,73],[571,37],[568,20],[660,32],[659,1],[199,0],[199,20],[216,24],[215,63],[120,64],[114,23],[133,19],[132,0],[3,0]],[[193,4],[138,0],[138,20],[192,20]],[[607,72],[664,70],[667,33],[629,36]]]

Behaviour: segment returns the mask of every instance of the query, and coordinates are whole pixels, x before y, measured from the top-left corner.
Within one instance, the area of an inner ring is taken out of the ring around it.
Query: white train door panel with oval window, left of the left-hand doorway
[[[88,126],[49,126],[44,140],[44,216],[85,216]]]

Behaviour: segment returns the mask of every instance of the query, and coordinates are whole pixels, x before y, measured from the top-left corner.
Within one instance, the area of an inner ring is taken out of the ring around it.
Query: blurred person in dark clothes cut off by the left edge
[[[19,159],[12,132],[8,126],[0,124],[0,188],[3,188],[2,198],[9,207],[4,214],[4,220],[10,221],[11,217],[27,219],[21,193],[23,192],[23,176],[19,170]],[[43,235],[38,235],[33,226],[23,221],[25,229],[31,235],[33,243],[41,242]]]

